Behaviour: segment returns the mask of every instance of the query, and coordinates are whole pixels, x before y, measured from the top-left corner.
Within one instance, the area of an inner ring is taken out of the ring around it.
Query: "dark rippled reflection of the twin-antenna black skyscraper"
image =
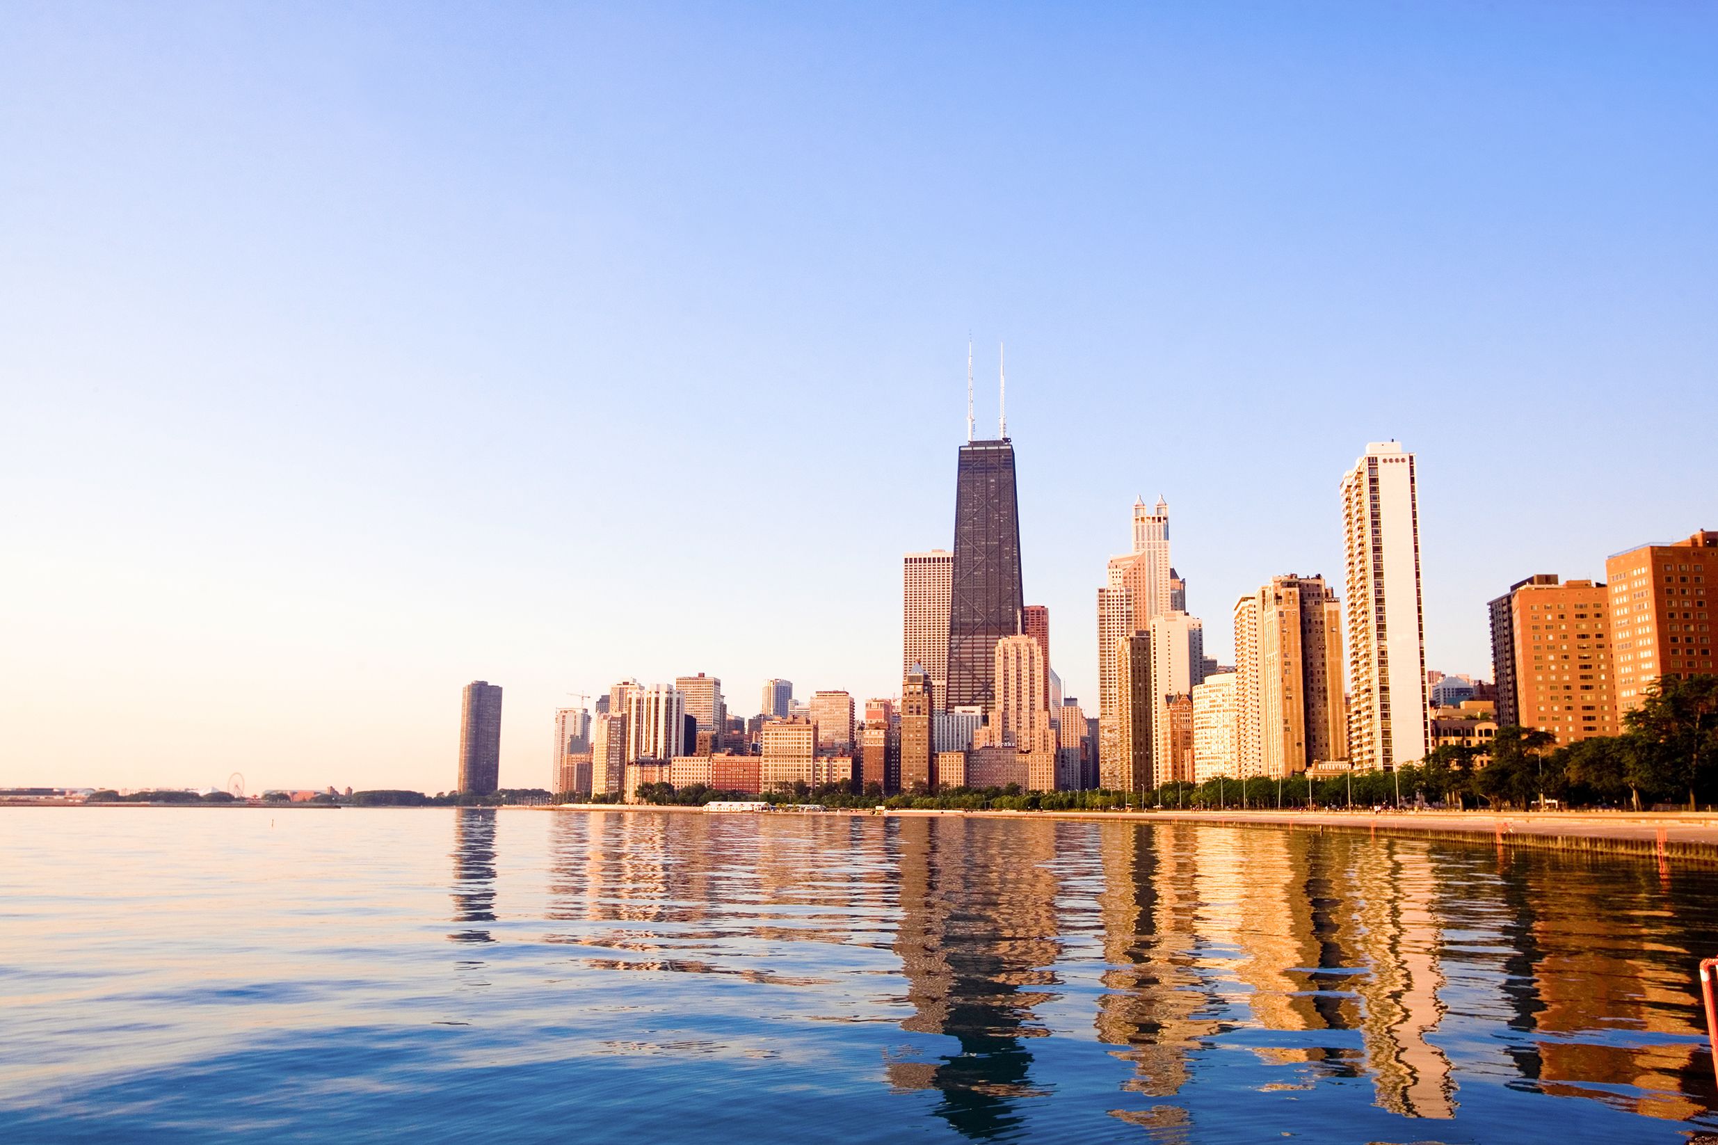
[[[899,820],[900,925],[912,1033],[947,1035],[957,1054],[888,1064],[899,1090],[940,1090],[936,1114],[971,1138],[1019,1128],[1031,1085],[1033,1007],[1055,997],[1057,882],[1050,830],[943,817]]]

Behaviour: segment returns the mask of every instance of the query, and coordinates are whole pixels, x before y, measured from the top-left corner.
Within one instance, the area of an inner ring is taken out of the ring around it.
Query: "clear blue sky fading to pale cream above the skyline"
[[[1426,660],[1718,528],[1718,9],[0,5],[0,786],[502,784],[613,681],[900,688],[966,352],[1026,597],[1208,648],[1417,456]]]

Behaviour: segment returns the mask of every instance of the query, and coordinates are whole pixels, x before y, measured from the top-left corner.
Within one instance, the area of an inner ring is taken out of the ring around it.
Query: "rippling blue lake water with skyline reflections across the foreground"
[[[1718,873],[1036,818],[0,810],[5,1142],[1682,1142]]]

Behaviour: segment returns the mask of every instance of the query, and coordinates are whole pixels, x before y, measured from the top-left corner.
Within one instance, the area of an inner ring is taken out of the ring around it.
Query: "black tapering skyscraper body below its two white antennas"
[[[950,708],[995,700],[996,641],[1020,631],[1020,511],[1014,445],[967,442],[955,475],[955,559],[948,593]]]

